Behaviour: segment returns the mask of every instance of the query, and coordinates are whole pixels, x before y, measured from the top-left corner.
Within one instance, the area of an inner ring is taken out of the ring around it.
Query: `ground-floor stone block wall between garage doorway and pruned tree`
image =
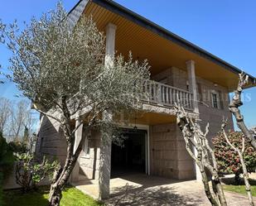
[[[195,178],[194,165],[176,123],[150,128],[151,174],[176,180]]]

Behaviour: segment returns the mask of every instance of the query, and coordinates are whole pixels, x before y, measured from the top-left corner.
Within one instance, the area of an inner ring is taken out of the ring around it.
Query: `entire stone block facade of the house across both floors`
[[[183,69],[171,67],[153,76],[152,79],[176,88],[189,90],[188,75]],[[209,139],[220,131],[220,122],[223,117],[228,117],[229,129],[234,129],[228,109],[228,90],[200,77],[196,77],[196,84],[202,128],[204,129],[205,124],[210,122]],[[211,105],[213,91],[220,94],[219,108],[213,108]],[[86,146],[89,149],[85,148],[78,160],[80,174],[89,180],[99,180],[100,136],[99,131],[92,132]],[[149,137],[151,175],[177,180],[195,179],[195,165],[186,151],[185,142],[181,137],[180,130],[176,127],[176,122],[150,125]],[[56,156],[63,164],[66,154],[65,138],[56,121],[47,117],[41,118],[36,151],[41,155]]]

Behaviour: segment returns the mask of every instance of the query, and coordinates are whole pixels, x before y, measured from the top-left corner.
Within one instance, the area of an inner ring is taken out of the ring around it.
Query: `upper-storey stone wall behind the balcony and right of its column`
[[[167,76],[169,75],[169,76]],[[156,81],[166,78],[166,84],[180,89],[189,89],[188,74],[186,70],[171,67],[152,77]],[[220,122],[223,117],[228,118],[228,129],[234,130],[231,113],[229,113],[229,91],[228,89],[216,85],[208,80],[196,76],[197,98],[199,100],[199,113],[202,128],[206,123],[210,123],[209,137],[214,137],[220,131]],[[211,105],[211,93],[220,95],[220,108],[213,108]]]

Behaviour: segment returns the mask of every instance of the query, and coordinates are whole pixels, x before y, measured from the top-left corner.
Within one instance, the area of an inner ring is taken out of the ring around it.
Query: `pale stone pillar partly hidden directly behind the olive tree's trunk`
[[[76,118],[75,119],[75,127],[78,127],[80,125],[81,121],[82,121],[82,119],[80,119],[80,117]],[[75,131],[74,153],[75,153],[77,147],[79,146],[79,143],[80,143],[80,140],[82,138],[82,135],[83,135],[83,123]],[[77,159],[77,161],[75,163],[75,167],[72,170],[71,182],[78,182],[79,181],[79,170],[80,170],[80,157],[78,157],[78,159]]]

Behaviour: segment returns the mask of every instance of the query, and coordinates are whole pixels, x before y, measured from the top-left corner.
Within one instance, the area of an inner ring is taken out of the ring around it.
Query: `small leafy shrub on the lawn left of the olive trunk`
[[[16,182],[22,186],[24,193],[36,189],[37,185],[46,176],[51,179],[54,170],[58,166],[56,160],[51,162],[45,156],[41,162],[29,153],[16,154],[16,157]]]

